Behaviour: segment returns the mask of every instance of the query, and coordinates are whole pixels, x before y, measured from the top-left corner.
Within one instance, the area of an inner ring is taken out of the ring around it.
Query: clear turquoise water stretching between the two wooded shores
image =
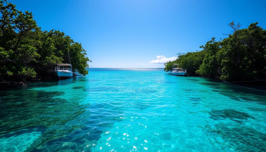
[[[266,151],[266,94],[162,69],[1,91],[0,151]]]

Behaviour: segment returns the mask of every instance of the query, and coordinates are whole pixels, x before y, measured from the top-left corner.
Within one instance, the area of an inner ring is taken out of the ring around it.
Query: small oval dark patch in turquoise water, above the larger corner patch
[[[243,120],[247,120],[248,118],[255,119],[245,112],[240,112],[234,109],[211,110],[209,114],[211,115],[210,118],[213,120],[230,119],[240,123],[243,123]]]

